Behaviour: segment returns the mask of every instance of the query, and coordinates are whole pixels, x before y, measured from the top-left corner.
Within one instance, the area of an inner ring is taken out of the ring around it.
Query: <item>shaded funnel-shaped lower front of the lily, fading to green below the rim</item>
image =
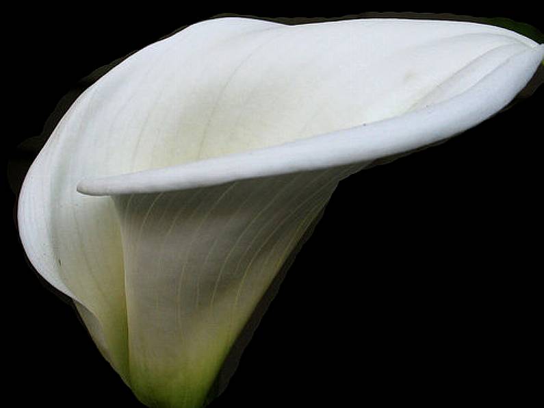
[[[353,167],[116,196],[133,390],[198,407],[298,240]]]

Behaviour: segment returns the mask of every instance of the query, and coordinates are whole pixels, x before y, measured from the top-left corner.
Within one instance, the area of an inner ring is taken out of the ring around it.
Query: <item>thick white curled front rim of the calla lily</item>
[[[508,105],[544,58],[544,44],[514,55],[446,101],[395,118],[246,153],[125,175],[82,179],[77,190],[104,196],[166,192],[317,170],[402,153],[478,125]]]

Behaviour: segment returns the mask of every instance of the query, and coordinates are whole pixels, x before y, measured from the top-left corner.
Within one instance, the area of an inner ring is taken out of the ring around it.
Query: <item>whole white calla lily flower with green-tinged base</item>
[[[142,403],[200,407],[337,183],[486,120],[543,57],[476,23],[203,21],[70,107],[23,184],[23,246]]]

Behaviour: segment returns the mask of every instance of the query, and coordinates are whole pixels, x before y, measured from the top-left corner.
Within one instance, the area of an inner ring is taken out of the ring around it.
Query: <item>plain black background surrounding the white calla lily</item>
[[[539,13],[516,14],[510,6],[445,11],[506,16],[542,29]],[[5,13],[14,23],[4,41],[6,162],[29,158],[16,146],[41,133],[79,79],[183,25],[219,12],[361,12],[154,7]],[[535,309],[543,92],[445,144],[342,181],[231,385],[211,407],[441,405],[469,396],[519,403],[535,390],[527,368],[541,361]],[[7,184],[5,198],[5,394],[18,405],[142,406],[73,309],[28,266]]]

